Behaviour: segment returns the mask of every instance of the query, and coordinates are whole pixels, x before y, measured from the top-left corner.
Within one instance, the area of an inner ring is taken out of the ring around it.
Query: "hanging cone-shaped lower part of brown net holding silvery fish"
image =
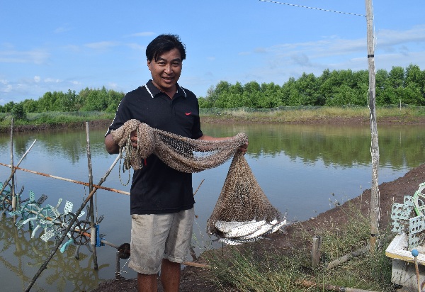
[[[207,221],[209,235],[240,245],[280,230],[286,215],[268,201],[242,152],[230,164],[225,184]]]

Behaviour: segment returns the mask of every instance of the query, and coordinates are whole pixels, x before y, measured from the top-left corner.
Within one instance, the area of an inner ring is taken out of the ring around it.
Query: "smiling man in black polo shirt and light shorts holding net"
[[[152,128],[200,140],[225,140],[203,135],[196,96],[177,84],[186,48],[178,35],[159,35],[146,48],[152,80],[129,92],[120,102],[106,133],[106,150],[118,153],[111,130],[130,119]],[[137,133],[130,135],[137,147]],[[248,145],[239,147],[246,152]],[[194,220],[192,174],[171,169],[157,156],[145,159],[134,172],[130,191],[132,215],[130,268],[137,271],[138,291],[157,291],[161,270],[164,291],[179,291],[180,264],[191,244]]]

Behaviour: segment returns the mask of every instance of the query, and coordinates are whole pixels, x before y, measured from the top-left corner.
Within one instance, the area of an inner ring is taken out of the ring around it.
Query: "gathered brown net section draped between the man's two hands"
[[[137,131],[137,148],[132,147],[130,133]],[[157,155],[169,167],[179,172],[201,172],[217,167],[232,158],[239,146],[248,142],[245,133],[222,141],[189,139],[180,135],[149,127],[139,120],[128,120],[111,131],[113,140],[120,146],[125,169],[137,170],[149,155]]]

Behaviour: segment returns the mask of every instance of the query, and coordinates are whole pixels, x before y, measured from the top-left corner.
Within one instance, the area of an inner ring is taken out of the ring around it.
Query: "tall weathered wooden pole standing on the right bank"
[[[378,166],[379,166],[379,146],[378,128],[376,126],[375,111],[375,47],[373,37],[373,5],[372,0],[365,0],[366,22],[368,26],[368,68],[369,68],[369,96],[368,104],[370,110],[370,132],[372,140],[370,154],[372,155],[372,189],[370,193],[370,250],[375,249],[379,233],[379,187],[378,187]]]

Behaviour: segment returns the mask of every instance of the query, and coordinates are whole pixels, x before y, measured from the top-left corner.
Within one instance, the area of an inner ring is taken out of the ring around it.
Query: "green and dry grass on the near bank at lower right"
[[[334,269],[326,269],[332,260],[368,245],[369,219],[354,207],[350,207],[346,215],[345,225],[333,228],[327,225],[314,230],[322,239],[322,262],[314,268],[310,264],[311,249],[307,245],[294,247],[289,252],[228,247],[220,251],[221,254],[217,251],[205,253],[213,267],[211,271],[215,285],[220,291],[338,291],[331,290],[329,286],[394,291],[391,283],[392,262],[385,256],[389,242],[373,253],[353,258]],[[300,242],[311,242],[311,233],[304,231],[298,234],[302,237]],[[390,232],[385,231],[381,237],[389,235]],[[302,283],[327,284],[328,288]]]

